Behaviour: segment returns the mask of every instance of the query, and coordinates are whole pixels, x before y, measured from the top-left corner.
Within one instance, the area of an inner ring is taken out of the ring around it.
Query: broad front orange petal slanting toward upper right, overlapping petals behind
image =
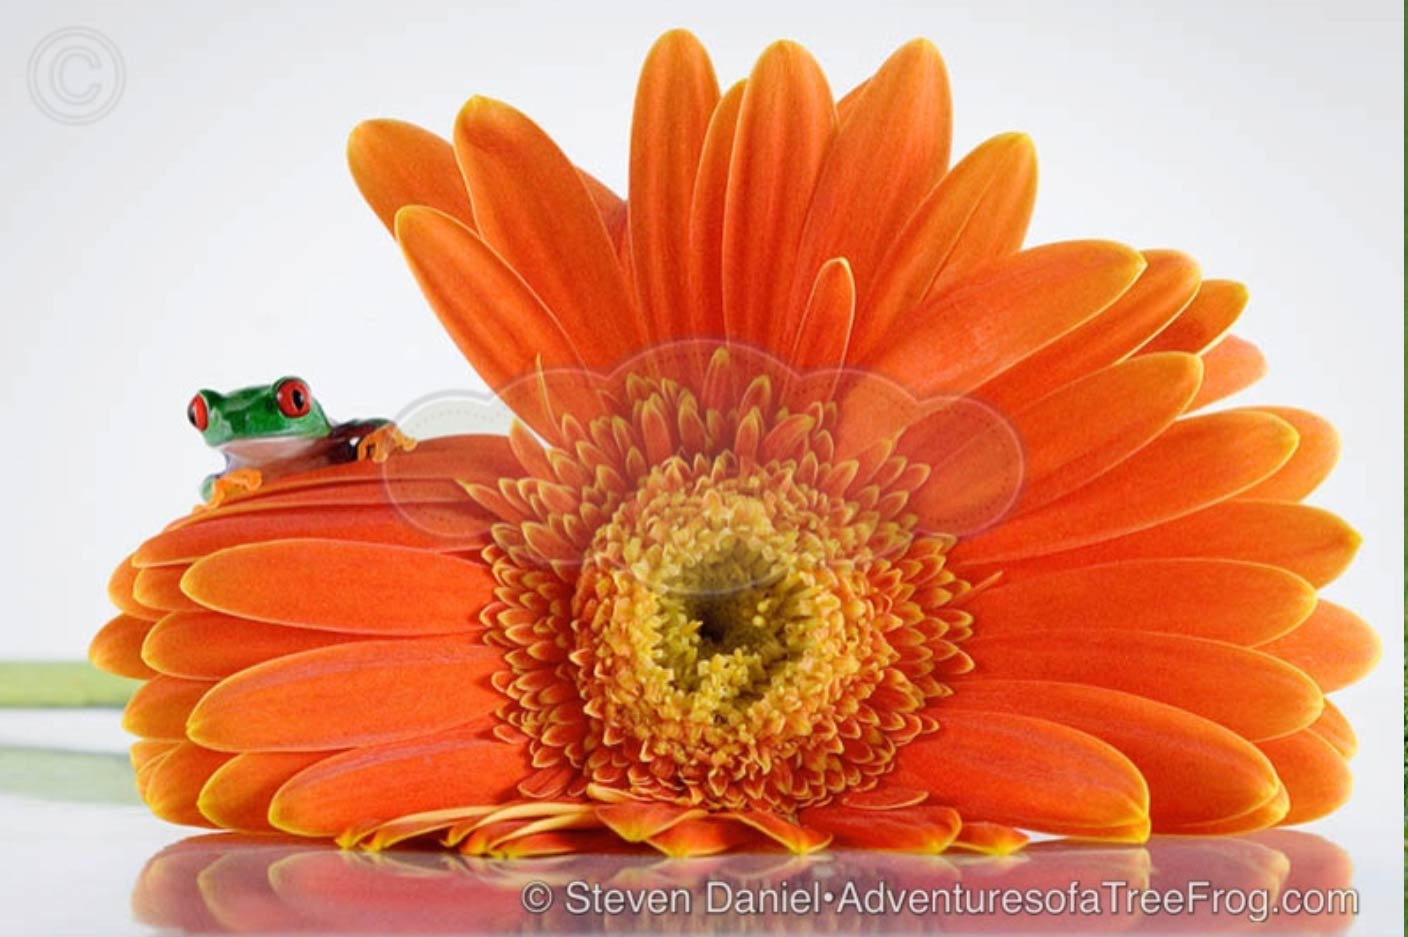
[[[967,393],[1110,306],[1143,265],[1108,241],[1012,254],[897,320],[862,364],[921,397]]]

